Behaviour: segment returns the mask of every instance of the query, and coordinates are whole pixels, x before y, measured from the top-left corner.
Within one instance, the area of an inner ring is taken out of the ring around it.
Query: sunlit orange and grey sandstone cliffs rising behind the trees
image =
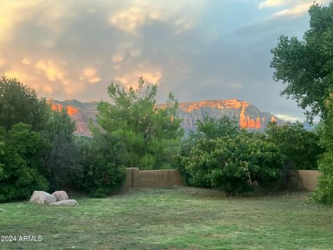
[[[77,135],[91,135],[89,131],[89,119],[96,123],[97,102],[80,102],[76,100],[56,101],[50,100],[53,110],[67,108],[67,113],[76,121]],[[158,105],[163,107],[164,104]],[[241,128],[262,131],[267,127],[268,122],[275,121],[284,124],[284,121],[268,112],[262,112],[247,101],[215,100],[215,101],[194,101],[179,103],[178,115],[182,119],[182,128],[185,131],[195,131],[196,121],[204,119],[207,115],[219,119],[227,116],[236,119]]]

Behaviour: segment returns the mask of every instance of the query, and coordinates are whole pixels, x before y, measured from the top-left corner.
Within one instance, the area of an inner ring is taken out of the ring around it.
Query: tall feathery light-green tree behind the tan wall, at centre
[[[137,90],[130,88],[127,92],[112,83],[108,93],[112,103],[102,101],[98,105],[97,121],[102,129],[93,130],[97,142],[102,140],[117,152],[112,163],[140,169],[170,167],[182,136],[176,117],[178,102],[173,95],[169,94],[166,106],[157,108],[157,86],[144,88],[142,78]]]

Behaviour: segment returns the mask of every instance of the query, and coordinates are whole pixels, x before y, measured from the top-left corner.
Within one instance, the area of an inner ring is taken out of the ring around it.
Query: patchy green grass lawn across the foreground
[[[333,249],[333,208],[309,192],[225,198],[198,188],[130,190],[78,206],[2,203],[0,249]],[[1,210],[1,209],[0,209]]]

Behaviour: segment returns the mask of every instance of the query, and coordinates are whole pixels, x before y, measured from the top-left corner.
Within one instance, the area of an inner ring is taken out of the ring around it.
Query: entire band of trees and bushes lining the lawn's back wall
[[[220,188],[230,195],[267,187],[282,169],[317,169],[323,152],[316,133],[302,124],[269,124],[249,133],[235,121],[207,117],[183,138],[178,102],[169,94],[157,108],[157,86],[139,79],[136,90],[112,83],[111,102],[98,104],[92,138],[74,135],[66,109],[16,79],[0,81],[0,201],[27,198],[33,190],[76,188],[92,197],[121,189],[125,167],[177,168],[189,185]]]

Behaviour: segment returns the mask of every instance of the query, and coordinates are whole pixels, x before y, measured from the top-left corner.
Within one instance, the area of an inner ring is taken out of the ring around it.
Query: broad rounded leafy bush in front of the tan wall
[[[214,126],[230,123],[225,118],[215,125],[212,119],[207,122],[202,127],[210,127],[209,131],[216,131],[211,129]],[[189,185],[220,188],[234,195],[252,190],[250,184],[255,181],[264,186],[278,181],[282,176],[278,147],[261,135],[236,129],[233,132],[215,137],[212,133],[203,135],[191,147],[191,142],[185,142],[185,149],[176,161]]]

